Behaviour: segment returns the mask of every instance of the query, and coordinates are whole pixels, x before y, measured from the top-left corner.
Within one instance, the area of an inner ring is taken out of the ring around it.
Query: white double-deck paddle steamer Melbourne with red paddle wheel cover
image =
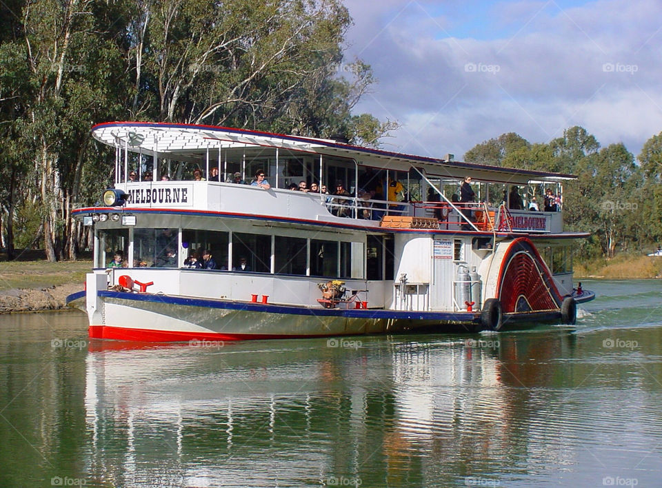
[[[93,338],[475,331],[576,319],[572,247],[589,234],[563,232],[563,212],[508,210],[508,196],[501,203],[514,185],[558,193],[572,175],[206,125],[115,122],[92,134],[115,152],[114,187],[104,206],[74,211],[94,228],[94,270],[68,303],[88,314]],[[184,179],[214,167],[219,181]],[[140,181],[148,171],[153,181]],[[160,181],[166,171],[172,178]],[[254,174],[270,185],[232,183]],[[481,203],[452,198],[466,175]],[[348,191],[287,189],[300,182]],[[189,267],[202,249],[214,265]],[[123,267],[109,267],[117,251]]]

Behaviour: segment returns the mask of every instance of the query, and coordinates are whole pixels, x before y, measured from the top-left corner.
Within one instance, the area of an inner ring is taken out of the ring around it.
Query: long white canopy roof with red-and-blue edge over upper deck
[[[576,179],[572,174],[559,174],[518,168],[444,161],[426,156],[401,154],[373,148],[363,148],[310,137],[272,134],[257,130],[234,129],[214,125],[156,122],[108,122],[94,125],[92,136],[115,148],[131,152],[158,153],[181,161],[204,161],[208,151],[241,150],[250,156],[251,150],[263,154],[265,148],[305,152],[341,159],[351,159],[361,166],[385,170],[409,171],[417,167],[428,177],[462,178],[472,176],[481,181],[524,184],[529,181],[561,182]]]

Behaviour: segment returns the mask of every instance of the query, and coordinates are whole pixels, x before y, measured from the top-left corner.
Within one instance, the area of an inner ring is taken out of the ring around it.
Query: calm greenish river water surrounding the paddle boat
[[[662,281],[575,326],[196,345],[0,316],[0,487],[662,486]]]

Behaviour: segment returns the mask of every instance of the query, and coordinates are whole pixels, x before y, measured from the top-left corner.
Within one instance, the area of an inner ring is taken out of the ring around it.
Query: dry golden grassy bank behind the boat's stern
[[[662,257],[621,254],[574,263],[574,278],[662,278]]]

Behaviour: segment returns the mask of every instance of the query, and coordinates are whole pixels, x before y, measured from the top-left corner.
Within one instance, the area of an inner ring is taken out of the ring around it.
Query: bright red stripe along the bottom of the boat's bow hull
[[[90,325],[90,338],[132,340],[146,343],[181,343],[191,340],[257,340],[257,339],[298,339],[325,337],[329,334],[301,336],[297,334],[219,334],[216,332],[170,331],[150,329],[129,329],[108,325]]]

